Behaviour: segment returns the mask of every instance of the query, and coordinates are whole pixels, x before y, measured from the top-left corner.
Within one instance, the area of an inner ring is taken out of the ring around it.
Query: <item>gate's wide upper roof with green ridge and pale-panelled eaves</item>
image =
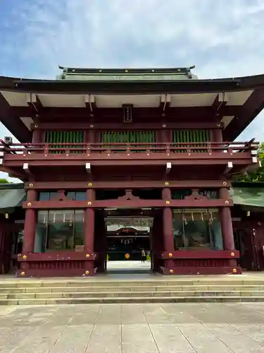
[[[94,107],[96,126],[96,116],[106,109],[121,110],[123,104],[132,104],[140,116],[160,114],[160,121],[181,123],[184,116],[196,121],[220,116],[224,139],[232,141],[264,107],[264,75],[199,80],[191,73],[194,66],[60,68],[62,73],[56,80],[0,76],[0,119],[21,142],[32,140],[36,116],[56,119],[72,114],[78,119],[89,116]]]

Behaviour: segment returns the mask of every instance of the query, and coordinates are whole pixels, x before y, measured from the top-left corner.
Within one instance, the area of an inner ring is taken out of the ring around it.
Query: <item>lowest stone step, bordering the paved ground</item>
[[[133,303],[217,303],[217,302],[264,302],[264,297],[88,297],[57,299],[0,299],[6,305],[58,305],[58,304],[133,304]]]

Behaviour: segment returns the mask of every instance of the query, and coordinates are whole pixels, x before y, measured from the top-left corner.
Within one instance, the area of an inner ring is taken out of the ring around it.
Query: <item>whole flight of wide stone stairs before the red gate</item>
[[[264,301],[264,277],[160,277],[158,280],[0,278],[0,305]]]

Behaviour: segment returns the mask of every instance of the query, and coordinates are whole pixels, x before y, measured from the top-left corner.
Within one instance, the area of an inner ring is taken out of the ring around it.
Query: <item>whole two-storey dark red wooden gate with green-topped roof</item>
[[[229,189],[259,162],[254,139],[234,140],[264,107],[264,75],[59,68],[0,77],[20,141],[3,136],[0,169],[27,190],[18,277],[92,276],[142,248],[163,275],[240,274]]]

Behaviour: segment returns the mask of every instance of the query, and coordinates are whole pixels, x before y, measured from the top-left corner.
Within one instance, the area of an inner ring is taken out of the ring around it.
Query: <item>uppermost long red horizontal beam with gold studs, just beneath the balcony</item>
[[[223,184],[227,183],[227,184]],[[88,184],[92,184],[88,186]],[[30,185],[30,186],[29,186]],[[25,183],[25,189],[215,189],[229,188],[230,181],[223,180],[159,180],[159,181],[35,181]]]

